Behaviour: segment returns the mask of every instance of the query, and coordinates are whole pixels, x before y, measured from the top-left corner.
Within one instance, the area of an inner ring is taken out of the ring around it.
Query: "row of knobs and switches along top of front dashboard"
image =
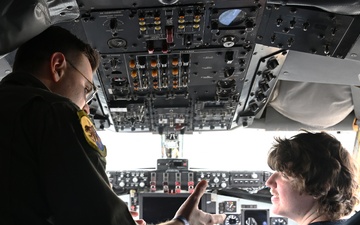
[[[109,171],[114,189],[148,189],[150,192],[191,192],[201,180],[209,189],[261,189],[271,173],[266,171]]]

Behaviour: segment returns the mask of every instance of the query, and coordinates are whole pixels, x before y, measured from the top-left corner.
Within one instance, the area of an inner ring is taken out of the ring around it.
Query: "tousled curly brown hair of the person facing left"
[[[359,203],[358,168],[340,141],[326,132],[308,131],[275,140],[268,165],[294,177],[294,188],[317,199],[319,213],[335,220],[353,211]]]

